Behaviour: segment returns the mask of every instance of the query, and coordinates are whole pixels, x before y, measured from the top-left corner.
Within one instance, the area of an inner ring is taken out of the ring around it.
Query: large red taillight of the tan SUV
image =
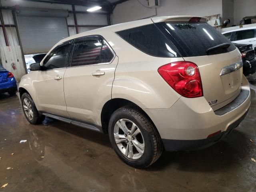
[[[158,73],[180,95],[188,98],[203,96],[198,66],[188,61],[178,61],[158,68]]]

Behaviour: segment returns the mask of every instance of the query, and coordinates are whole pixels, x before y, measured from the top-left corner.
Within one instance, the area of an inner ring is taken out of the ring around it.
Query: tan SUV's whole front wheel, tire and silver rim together
[[[34,125],[42,123],[42,121],[44,120],[44,116],[38,113],[38,110],[36,109],[34,101],[30,97],[30,95],[24,93],[22,94],[20,100],[23,113],[28,122]]]

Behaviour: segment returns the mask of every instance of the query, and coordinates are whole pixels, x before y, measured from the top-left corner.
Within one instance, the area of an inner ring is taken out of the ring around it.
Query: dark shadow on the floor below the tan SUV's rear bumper
[[[234,130],[220,142],[209,148],[195,151],[163,152],[160,159],[148,170],[164,170],[175,164],[178,170],[190,172],[215,172],[234,167],[244,158],[249,158],[250,150],[245,150],[250,142],[244,133]]]

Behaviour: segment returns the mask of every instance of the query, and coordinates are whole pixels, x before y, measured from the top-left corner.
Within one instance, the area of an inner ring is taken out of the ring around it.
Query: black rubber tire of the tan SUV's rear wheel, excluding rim
[[[114,126],[120,119],[127,119],[136,124],[144,138],[144,153],[136,160],[127,158],[118,148],[114,138]],[[136,106],[125,106],[116,110],[110,117],[108,125],[110,142],[116,154],[128,165],[146,168],[156,162],[162,154],[163,145],[160,135],[146,114]]]

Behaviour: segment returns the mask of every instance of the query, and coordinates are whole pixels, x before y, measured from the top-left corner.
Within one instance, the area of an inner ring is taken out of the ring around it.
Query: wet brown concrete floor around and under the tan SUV
[[[226,138],[204,150],[164,152],[144,170],[124,164],[108,135],[57,120],[31,125],[18,97],[1,94],[0,186],[8,185],[0,191],[255,192],[256,81],[250,83],[250,111]]]

